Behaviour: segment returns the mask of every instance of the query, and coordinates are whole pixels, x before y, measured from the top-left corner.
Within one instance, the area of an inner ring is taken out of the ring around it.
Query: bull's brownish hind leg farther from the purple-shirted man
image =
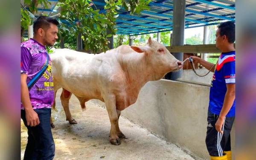
[[[71,95],[72,95],[72,93],[70,93],[69,91],[62,88],[61,105],[65,111],[66,120],[68,120],[68,122],[70,122],[70,124],[77,124],[76,120],[73,119],[73,117],[71,116],[71,113],[69,110],[69,100],[70,100]]]

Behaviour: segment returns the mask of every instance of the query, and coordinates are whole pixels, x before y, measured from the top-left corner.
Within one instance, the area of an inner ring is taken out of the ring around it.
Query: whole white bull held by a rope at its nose
[[[90,99],[105,102],[113,145],[119,145],[119,138],[125,137],[118,125],[121,111],[136,102],[145,83],[159,80],[182,67],[166,47],[151,38],[146,46],[122,45],[97,55],[57,49],[51,59],[55,95],[62,87],[61,104],[67,120],[76,124],[69,110],[72,93],[83,109]]]

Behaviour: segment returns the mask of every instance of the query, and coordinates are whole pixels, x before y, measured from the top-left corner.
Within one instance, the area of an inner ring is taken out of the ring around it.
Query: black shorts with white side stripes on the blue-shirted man
[[[210,156],[221,157],[223,151],[231,151],[230,131],[234,122],[235,116],[226,117],[222,127],[223,134],[215,129],[215,123],[218,120],[218,115],[213,114],[208,110],[208,126],[205,143]]]

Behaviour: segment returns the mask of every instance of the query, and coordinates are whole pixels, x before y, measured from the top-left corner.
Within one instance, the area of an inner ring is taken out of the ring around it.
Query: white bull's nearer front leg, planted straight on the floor
[[[110,129],[110,143],[112,145],[119,145],[121,144],[120,139],[117,135],[116,131],[116,124],[118,123],[118,116],[116,113],[116,99],[115,96],[108,96],[108,98],[104,99],[105,105],[108,111],[108,116],[111,124]]]

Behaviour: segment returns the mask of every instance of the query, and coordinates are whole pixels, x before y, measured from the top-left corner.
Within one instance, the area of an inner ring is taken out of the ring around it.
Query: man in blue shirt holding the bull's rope
[[[221,55],[215,64],[210,88],[206,145],[211,160],[231,160],[230,131],[235,119],[235,23],[221,23],[216,32]],[[214,64],[192,56],[210,70]]]

